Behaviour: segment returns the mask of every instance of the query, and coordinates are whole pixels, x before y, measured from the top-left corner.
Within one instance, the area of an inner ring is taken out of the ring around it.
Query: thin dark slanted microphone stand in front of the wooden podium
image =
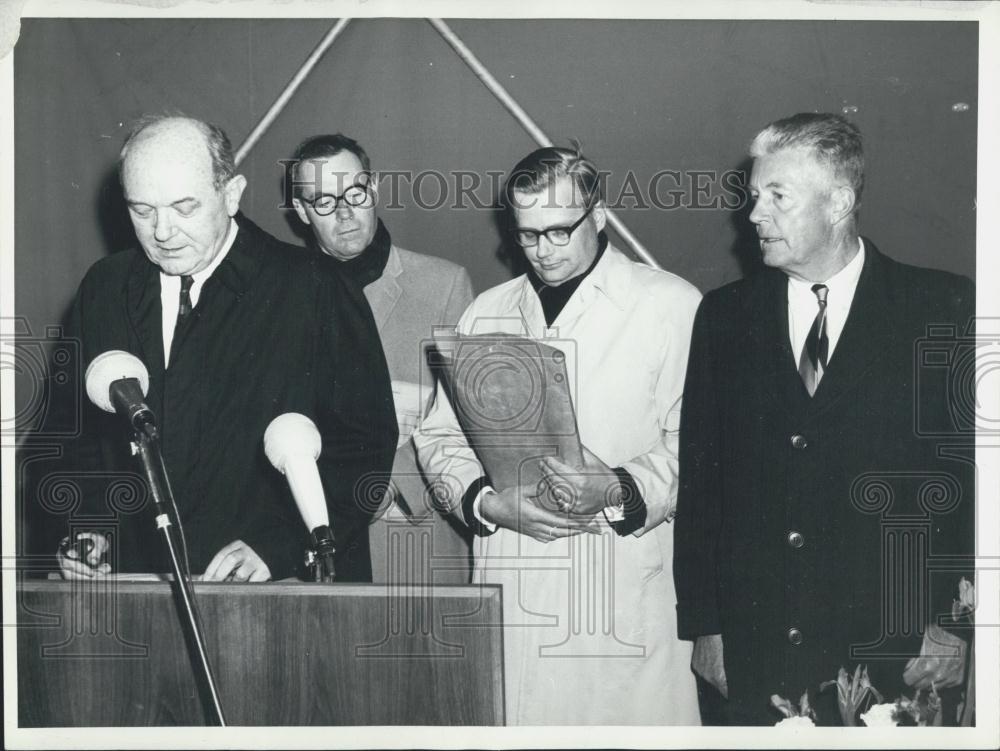
[[[220,727],[226,726],[226,718],[222,713],[222,702],[219,700],[219,691],[215,685],[215,675],[212,672],[212,665],[208,660],[208,652],[205,649],[205,639],[201,632],[201,619],[198,615],[198,608],[194,602],[194,595],[191,589],[191,580],[186,566],[181,565],[178,556],[177,531],[170,520],[170,511],[165,502],[167,493],[164,492],[167,484],[163,482],[160,475],[160,467],[166,472],[160,454],[159,434],[152,424],[145,424],[137,427],[135,431],[135,447],[142,459],[142,467],[149,482],[149,489],[153,494],[153,503],[156,506],[156,526],[163,531],[164,539],[167,543],[167,550],[170,553],[170,566],[173,569],[174,582],[177,584],[177,592],[180,594],[183,615],[182,623],[186,624],[189,636],[198,653],[198,664],[201,667],[202,677],[208,687],[209,696],[212,703],[212,716]]]

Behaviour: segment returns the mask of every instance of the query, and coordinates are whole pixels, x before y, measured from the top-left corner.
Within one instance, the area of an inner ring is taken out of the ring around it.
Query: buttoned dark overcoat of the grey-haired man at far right
[[[973,550],[975,501],[947,361],[957,362],[975,290],[865,248],[813,398],[789,345],[780,271],[711,292],[695,320],[675,522],[678,630],[722,633],[742,723],[773,723],[771,694],[797,701],[857,663],[897,696],[924,624],[950,606],[956,567],[971,568],[947,558]],[[957,329],[928,342],[932,325]],[[944,359],[923,357],[928,348]]]

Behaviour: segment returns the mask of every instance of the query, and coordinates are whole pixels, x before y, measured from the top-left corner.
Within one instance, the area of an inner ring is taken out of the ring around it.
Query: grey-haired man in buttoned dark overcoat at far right
[[[946,389],[917,393],[915,353],[928,327],[965,331],[972,283],[859,236],[861,136],[844,118],[779,120],[750,153],[768,268],[695,320],[674,560],[678,630],[734,724],[773,723],[772,694],[815,702],[841,666],[867,665],[893,698],[904,673],[957,685],[964,642],[937,616],[975,502],[968,434],[915,425],[950,419]]]

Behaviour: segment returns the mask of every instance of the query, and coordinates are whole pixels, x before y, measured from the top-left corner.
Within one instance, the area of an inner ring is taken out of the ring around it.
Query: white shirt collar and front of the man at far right
[[[854,291],[861,278],[861,269],[865,265],[865,244],[858,238],[858,252],[850,262],[824,282],[827,287],[826,297],[826,338],[830,342],[827,350],[827,360],[833,359],[833,350],[840,340],[840,334],[847,323],[847,314],[851,312],[854,301]],[[819,312],[819,302],[816,293],[812,291],[814,284],[800,279],[788,277],[788,338],[791,341],[795,362],[802,359],[802,350],[806,346],[809,329],[812,328],[816,314]]]

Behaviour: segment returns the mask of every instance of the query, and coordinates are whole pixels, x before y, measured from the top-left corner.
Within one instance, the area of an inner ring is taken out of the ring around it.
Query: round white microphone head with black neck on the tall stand
[[[156,435],[156,418],[143,401],[149,391],[149,371],[142,360],[120,349],[102,352],[87,367],[87,396],[105,412],[128,420],[136,432]]]

